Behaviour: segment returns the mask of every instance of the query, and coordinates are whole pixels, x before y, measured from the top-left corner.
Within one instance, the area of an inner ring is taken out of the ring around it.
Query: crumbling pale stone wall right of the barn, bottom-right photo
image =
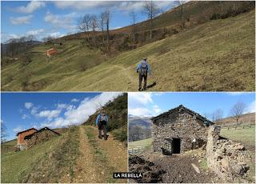
[[[208,167],[218,174],[224,181],[242,181],[247,170],[250,169],[250,151],[240,143],[222,138],[219,126],[210,126],[206,146]]]

